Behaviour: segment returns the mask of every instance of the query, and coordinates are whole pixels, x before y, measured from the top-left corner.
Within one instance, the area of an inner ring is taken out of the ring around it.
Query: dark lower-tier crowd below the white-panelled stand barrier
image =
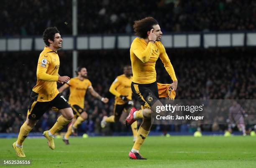
[[[177,99],[256,99],[256,57],[253,49],[172,49],[167,53],[179,80]],[[36,65],[39,52],[0,53],[0,132],[18,132],[25,121],[31,89],[36,83]],[[72,53],[59,51],[59,74],[72,77]],[[97,58],[97,59],[95,59]],[[129,52],[79,52],[79,66],[87,67],[92,86],[102,96],[110,98],[108,104],[87,93],[85,109],[89,118],[79,129],[90,133],[111,134],[130,131],[122,123],[100,128],[104,115],[113,113],[114,96],[108,91],[115,77],[123,73],[122,67],[130,64]],[[156,64],[157,82],[171,83],[161,60]],[[59,85],[60,86],[60,85]],[[68,97],[69,92],[64,92]],[[228,112],[228,111],[227,111]],[[33,131],[51,127],[58,113],[44,114]],[[218,117],[218,116],[216,116]],[[153,126],[153,130],[161,130]],[[189,126],[171,125],[168,131],[188,131]],[[223,126],[202,125],[202,130],[220,131]]]

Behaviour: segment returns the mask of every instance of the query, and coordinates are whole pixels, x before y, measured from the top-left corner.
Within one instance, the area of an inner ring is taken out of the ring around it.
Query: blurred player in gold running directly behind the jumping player
[[[132,101],[132,91],[131,91],[131,82],[132,82],[132,68],[130,65],[127,65],[123,68],[122,75],[118,76],[113,84],[110,86],[110,93],[115,95],[115,106],[114,106],[114,115],[113,116],[104,116],[101,121],[101,127],[104,128],[107,122],[113,123],[117,122],[120,119],[122,112],[128,112],[131,110],[133,101]],[[133,131],[133,142],[137,138],[137,121],[131,125]]]

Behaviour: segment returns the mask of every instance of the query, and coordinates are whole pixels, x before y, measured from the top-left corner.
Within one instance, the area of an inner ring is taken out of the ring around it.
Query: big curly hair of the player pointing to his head
[[[134,21],[133,29],[135,35],[146,39],[148,37],[147,32],[153,28],[153,25],[158,25],[157,20],[153,17],[145,17],[144,19]]]

